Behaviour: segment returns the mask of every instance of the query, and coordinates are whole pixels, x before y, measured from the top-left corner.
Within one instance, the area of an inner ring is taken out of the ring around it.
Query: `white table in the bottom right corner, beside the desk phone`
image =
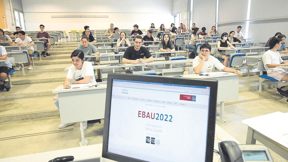
[[[273,112],[242,120],[248,126],[246,144],[256,140],[288,160],[288,113]]]

